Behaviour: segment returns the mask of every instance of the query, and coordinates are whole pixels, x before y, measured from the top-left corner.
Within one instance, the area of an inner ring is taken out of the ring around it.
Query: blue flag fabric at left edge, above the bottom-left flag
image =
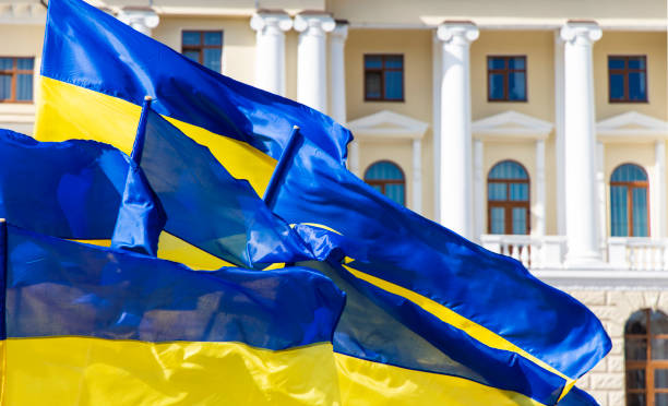
[[[108,239],[129,160],[94,141],[38,142],[0,130],[0,218],[60,238]]]

